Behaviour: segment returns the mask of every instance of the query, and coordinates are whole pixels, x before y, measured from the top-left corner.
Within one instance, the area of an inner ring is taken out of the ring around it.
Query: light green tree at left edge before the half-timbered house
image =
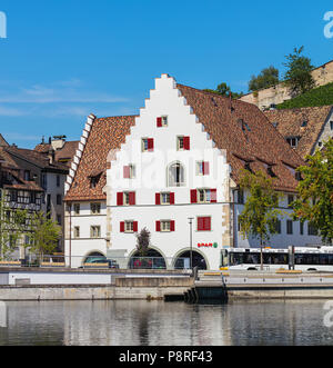
[[[12,209],[6,200],[7,191],[0,191],[0,259],[8,259],[27,231],[28,213],[24,210]]]

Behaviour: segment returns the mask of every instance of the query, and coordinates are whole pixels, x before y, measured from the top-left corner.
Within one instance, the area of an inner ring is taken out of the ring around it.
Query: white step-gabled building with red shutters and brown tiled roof
[[[255,106],[162,74],[140,116],[88,118],[65,188],[65,253],[72,267],[91,253],[129,267],[147,228],[150,256],[163,258],[154,266],[186,267],[192,249],[193,266],[218,269],[224,247],[259,245],[238,231],[241,171],[274,177],[290,211],[303,163]],[[320,242],[286,217],[280,225],[273,248]]]

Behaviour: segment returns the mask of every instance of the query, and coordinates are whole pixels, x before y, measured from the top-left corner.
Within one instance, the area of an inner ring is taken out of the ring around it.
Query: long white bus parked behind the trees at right
[[[264,270],[294,269],[300,271],[333,272],[333,247],[294,247],[290,249],[264,248]],[[294,262],[292,262],[292,258]],[[255,271],[261,269],[261,249],[225,248],[222,250],[222,268]]]

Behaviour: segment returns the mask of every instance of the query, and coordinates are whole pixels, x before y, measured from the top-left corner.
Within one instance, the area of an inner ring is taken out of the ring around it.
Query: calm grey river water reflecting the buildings
[[[7,302],[0,309],[0,345],[332,346],[333,318],[324,304]]]

